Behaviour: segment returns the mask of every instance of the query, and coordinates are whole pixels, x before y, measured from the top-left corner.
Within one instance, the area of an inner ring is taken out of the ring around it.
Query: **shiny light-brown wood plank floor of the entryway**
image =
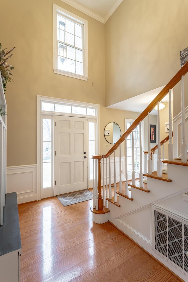
[[[109,222],[92,221],[92,200],[21,204],[21,282],[179,282]]]

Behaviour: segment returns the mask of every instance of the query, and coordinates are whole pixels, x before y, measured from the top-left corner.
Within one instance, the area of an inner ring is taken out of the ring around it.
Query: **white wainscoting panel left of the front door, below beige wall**
[[[37,200],[37,165],[6,168],[6,192],[16,192],[18,204]]]

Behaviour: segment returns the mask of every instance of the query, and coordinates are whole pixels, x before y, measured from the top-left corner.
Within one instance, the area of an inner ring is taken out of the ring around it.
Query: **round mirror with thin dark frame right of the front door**
[[[121,137],[121,130],[117,123],[109,122],[104,129],[104,136],[108,143],[115,144]]]

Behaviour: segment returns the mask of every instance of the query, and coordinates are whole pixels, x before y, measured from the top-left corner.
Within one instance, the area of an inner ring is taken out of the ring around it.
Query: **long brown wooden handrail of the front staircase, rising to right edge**
[[[107,158],[113,154],[119,145],[125,140],[126,137],[130,135],[132,130],[134,130],[139,122],[141,122],[148,113],[150,113],[159,101],[161,101],[169,92],[169,89],[172,89],[182,78],[182,75],[185,75],[188,72],[188,62],[184,64],[182,68],[174,75],[174,77],[167,83],[166,86],[160,91],[160,93],[155,97],[155,99],[145,108],[145,110],[137,117],[137,119],[132,123],[132,125],[125,131],[125,133],[120,137],[120,139],[113,145],[113,147],[106,153],[102,155],[102,158]]]

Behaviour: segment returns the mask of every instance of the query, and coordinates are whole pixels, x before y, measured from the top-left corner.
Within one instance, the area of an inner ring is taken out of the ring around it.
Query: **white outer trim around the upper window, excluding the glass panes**
[[[64,17],[73,19],[82,24],[83,33],[83,75],[72,73],[58,68],[58,40],[57,40],[57,15],[61,14]],[[88,22],[79,16],[70,13],[69,11],[53,4],[53,72],[61,75],[66,75],[72,78],[88,80]]]

